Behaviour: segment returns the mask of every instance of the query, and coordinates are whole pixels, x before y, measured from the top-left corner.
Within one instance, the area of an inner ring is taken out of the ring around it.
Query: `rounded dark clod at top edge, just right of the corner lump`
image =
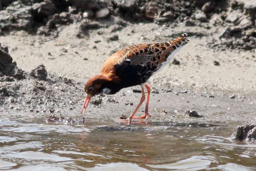
[[[50,16],[54,14],[56,8],[52,1],[45,0],[42,3],[36,3],[32,6],[32,9],[36,11],[38,16]]]

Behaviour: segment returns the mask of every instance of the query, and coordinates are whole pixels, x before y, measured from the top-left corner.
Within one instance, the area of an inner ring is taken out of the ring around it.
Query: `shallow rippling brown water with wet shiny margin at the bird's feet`
[[[90,104],[85,122],[74,124],[1,107],[0,170],[255,170],[256,144],[230,140],[236,126],[256,122],[254,98],[152,94],[149,124],[128,126],[115,118],[129,115],[140,94],[121,95],[113,96],[119,103]],[[80,107],[62,115],[82,118]],[[203,117],[183,116],[186,109]]]

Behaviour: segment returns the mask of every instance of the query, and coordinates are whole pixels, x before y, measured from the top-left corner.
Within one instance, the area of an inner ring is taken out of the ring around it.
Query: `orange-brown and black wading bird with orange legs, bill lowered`
[[[150,87],[146,82],[167,65],[174,54],[188,41],[187,33],[183,33],[169,42],[136,44],[114,53],[105,61],[100,75],[95,75],[86,82],[84,87],[86,97],[81,113],[85,112],[91,98],[95,95],[115,94],[123,88],[140,85],[142,93],[140,103],[130,117],[124,121],[131,124],[132,119],[145,119],[145,123],[147,123],[148,117],[150,117],[148,113]],[[135,113],[146,99],[144,86],[147,89],[145,114],[136,117]]]

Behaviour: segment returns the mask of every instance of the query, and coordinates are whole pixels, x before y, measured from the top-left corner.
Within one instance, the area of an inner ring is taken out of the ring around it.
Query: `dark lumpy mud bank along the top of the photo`
[[[164,0],[159,3],[150,0],[8,0],[2,1],[0,34],[25,30],[56,37],[63,27],[76,23],[75,35],[82,38],[89,36],[92,29],[108,28],[116,32],[138,22],[155,23],[160,27],[184,23],[186,27],[208,30],[222,27],[219,40],[212,37],[208,41],[212,48],[252,50],[256,45],[255,10],[255,3],[239,0]]]

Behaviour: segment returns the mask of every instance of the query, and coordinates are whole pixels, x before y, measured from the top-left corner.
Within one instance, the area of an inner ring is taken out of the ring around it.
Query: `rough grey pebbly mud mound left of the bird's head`
[[[0,106],[15,110],[52,113],[58,108],[74,109],[84,95],[81,82],[54,74],[40,64],[30,72],[16,66],[7,47],[0,45]]]

